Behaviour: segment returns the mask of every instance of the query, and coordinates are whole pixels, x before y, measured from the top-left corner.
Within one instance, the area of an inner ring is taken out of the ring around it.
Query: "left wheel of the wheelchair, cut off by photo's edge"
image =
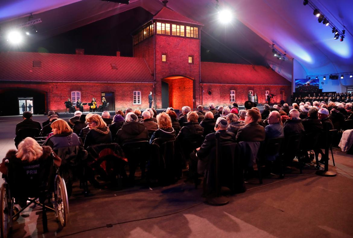
[[[1,186],[0,196],[0,232],[1,238],[6,238],[10,232],[12,221],[12,205],[10,199],[8,198],[9,194],[6,183]]]

